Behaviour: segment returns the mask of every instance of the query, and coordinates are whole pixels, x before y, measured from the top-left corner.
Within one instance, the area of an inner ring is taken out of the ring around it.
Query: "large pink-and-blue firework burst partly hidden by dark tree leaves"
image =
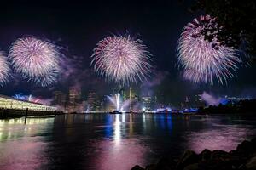
[[[232,72],[238,69],[241,59],[236,49],[219,40],[222,29],[210,15],[194,19],[183,28],[177,52],[185,79],[213,85],[214,79],[223,84],[234,77]]]

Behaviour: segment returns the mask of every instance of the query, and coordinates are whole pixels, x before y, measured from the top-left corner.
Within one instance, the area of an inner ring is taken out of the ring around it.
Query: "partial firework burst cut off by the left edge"
[[[8,82],[9,77],[9,62],[7,61],[7,58],[4,56],[3,51],[0,51],[0,86],[3,86],[4,83]]]

